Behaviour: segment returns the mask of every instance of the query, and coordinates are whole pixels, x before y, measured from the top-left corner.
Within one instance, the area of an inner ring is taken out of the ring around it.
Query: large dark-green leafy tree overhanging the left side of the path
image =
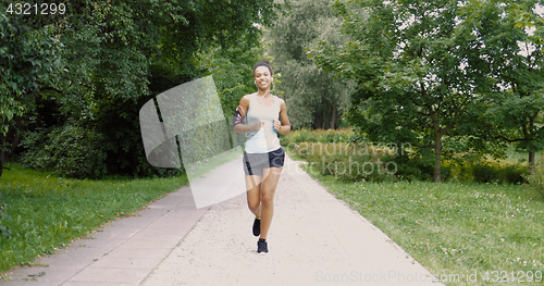
[[[254,24],[273,21],[262,16],[273,15],[273,7],[264,0],[71,1],[71,13],[55,26],[64,43],[63,72],[57,73],[54,85],[39,85],[63,121],[32,130],[27,163],[79,177],[163,174],[146,162],[139,108],[157,94],[205,75],[198,52],[258,45],[260,32]],[[74,160],[39,160],[47,157]]]

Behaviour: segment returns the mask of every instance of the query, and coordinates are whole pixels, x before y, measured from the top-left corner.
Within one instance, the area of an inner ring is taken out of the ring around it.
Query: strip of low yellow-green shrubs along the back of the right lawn
[[[359,139],[347,128],[342,130],[302,128],[285,136],[282,145],[310,163],[307,171],[333,175],[344,181],[432,181],[434,161],[432,157],[425,157],[424,151],[415,153],[410,146],[372,145]],[[523,175],[529,171],[527,163],[485,158],[471,153],[462,157],[454,153],[450,159],[443,161],[441,176],[444,181],[460,183],[524,182]],[[362,169],[363,166],[366,169]],[[370,172],[371,170],[374,172]]]

